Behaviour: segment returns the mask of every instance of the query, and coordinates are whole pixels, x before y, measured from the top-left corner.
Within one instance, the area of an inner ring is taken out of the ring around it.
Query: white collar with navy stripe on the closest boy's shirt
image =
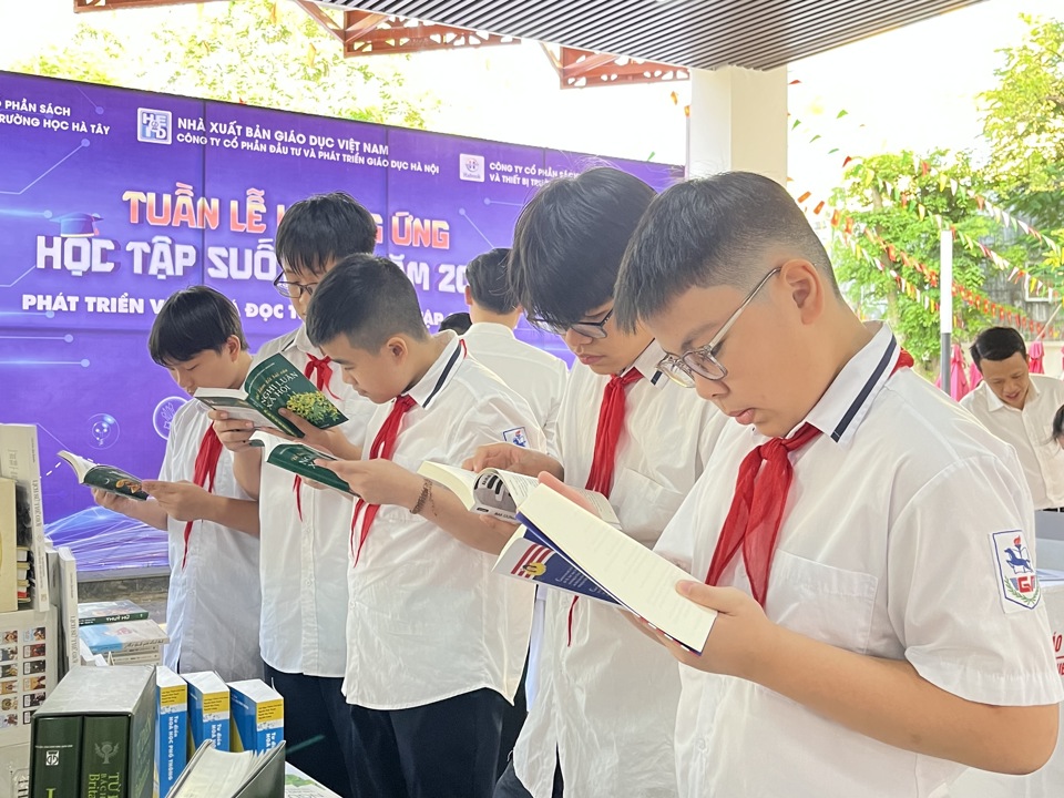
[[[842,447],[853,439],[898,360],[899,346],[890,327],[880,321],[867,326],[876,330],[872,339],[842,367],[805,418]]]

